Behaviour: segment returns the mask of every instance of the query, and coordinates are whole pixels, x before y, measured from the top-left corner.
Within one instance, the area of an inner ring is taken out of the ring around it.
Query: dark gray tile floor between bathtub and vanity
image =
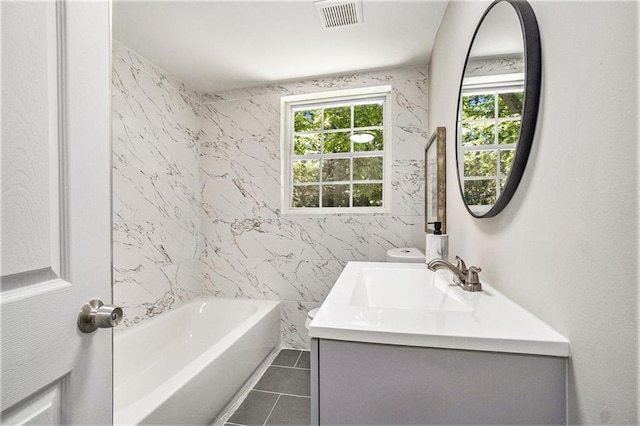
[[[308,425],[309,351],[282,349],[225,426]]]

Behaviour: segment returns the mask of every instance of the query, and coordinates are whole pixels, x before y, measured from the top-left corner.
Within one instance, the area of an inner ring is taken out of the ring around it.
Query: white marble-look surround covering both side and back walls
[[[390,84],[389,215],[280,214],[280,97]],[[200,294],[280,300],[282,345],[346,262],[424,248],[426,69],[198,94],[114,41],[114,302],[125,327]]]

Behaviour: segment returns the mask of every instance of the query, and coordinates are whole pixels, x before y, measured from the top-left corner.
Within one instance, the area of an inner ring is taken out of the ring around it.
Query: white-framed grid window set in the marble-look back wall
[[[388,211],[391,87],[282,98],[284,213]]]

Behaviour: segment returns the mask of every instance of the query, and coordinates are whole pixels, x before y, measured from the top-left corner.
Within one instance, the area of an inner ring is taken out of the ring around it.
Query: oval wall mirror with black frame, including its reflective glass
[[[458,97],[458,182],[474,217],[500,213],[520,183],[536,126],[540,77],[533,9],[526,1],[493,2],[471,41]]]

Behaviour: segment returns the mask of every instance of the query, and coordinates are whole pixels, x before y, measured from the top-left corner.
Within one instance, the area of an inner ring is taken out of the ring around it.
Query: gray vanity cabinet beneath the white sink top
[[[311,424],[566,424],[567,359],[328,339],[311,344]]]

